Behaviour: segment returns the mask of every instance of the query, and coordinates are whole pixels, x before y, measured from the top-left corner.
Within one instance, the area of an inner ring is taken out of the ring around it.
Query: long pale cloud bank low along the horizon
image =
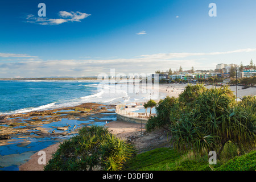
[[[29,55],[7,54],[9,56],[27,56],[18,58],[20,61],[0,61],[0,77],[45,77],[45,76],[97,76],[100,73],[107,73],[111,68],[116,73],[154,73],[156,69],[166,71],[179,69],[214,69],[216,61],[222,57],[233,60],[235,56],[250,60],[251,52],[256,48],[237,49],[223,52],[180,52],[180,53],[158,53],[152,55],[141,55],[131,59],[96,59],[95,57],[81,57],[71,60],[37,60],[32,61]],[[249,53],[249,54],[247,54]],[[0,55],[7,56],[5,53]],[[221,56],[220,56],[221,55]],[[222,56],[225,55],[225,56]],[[228,60],[229,61],[229,60]],[[237,60],[240,64],[241,60]],[[234,63],[234,62],[233,62]]]

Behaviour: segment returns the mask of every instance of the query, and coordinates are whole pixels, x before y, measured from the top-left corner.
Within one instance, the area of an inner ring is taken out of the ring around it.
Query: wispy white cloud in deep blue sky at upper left
[[[80,13],[79,11],[76,12],[67,12],[67,11],[60,11],[59,14],[60,18],[52,19],[52,18],[42,18],[37,17],[35,15],[27,15],[26,19],[28,23],[36,23],[42,25],[57,25],[66,22],[81,22],[82,19],[87,18],[90,14]]]

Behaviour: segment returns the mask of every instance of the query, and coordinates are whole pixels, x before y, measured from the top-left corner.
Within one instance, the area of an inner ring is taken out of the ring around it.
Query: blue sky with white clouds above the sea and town
[[[255,63],[255,7],[254,0],[1,1],[0,78]]]

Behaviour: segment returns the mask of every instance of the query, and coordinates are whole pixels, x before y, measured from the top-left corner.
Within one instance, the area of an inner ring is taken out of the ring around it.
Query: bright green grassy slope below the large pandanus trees
[[[129,171],[251,171],[256,169],[256,151],[209,166],[208,158],[181,156],[171,148],[156,148],[136,155],[126,164]]]

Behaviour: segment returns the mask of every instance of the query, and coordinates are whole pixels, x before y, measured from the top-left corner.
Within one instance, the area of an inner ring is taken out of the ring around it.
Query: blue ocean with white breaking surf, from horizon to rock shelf
[[[127,87],[126,82],[119,82],[118,85],[102,84],[100,80],[0,81],[0,114],[51,110],[88,102],[108,105],[149,100],[151,93],[138,94],[134,89],[138,84],[137,81]]]

